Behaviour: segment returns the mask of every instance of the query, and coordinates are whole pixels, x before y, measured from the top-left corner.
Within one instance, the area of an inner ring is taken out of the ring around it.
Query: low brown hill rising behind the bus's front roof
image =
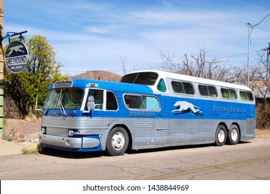
[[[109,71],[87,71],[85,73],[78,74],[77,76],[71,76],[71,78],[82,78],[82,79],[90,79],[90,80],[106,80],[106,81],[114,81],[119,82],[122,76],[119,76],[116,73],[112,73]]]

